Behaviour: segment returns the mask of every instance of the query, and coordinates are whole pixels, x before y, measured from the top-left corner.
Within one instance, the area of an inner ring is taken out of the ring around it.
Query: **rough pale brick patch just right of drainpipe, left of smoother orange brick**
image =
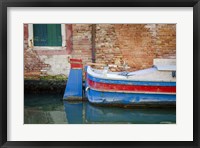
[[[115,25],[99,24],[96,26],[96,62],[118,64],[123,57]]]

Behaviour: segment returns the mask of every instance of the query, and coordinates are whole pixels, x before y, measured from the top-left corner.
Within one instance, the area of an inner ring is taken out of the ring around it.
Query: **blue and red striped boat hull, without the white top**
[[[175,106],[176,82],[103,79],[87,73],[86,96],[99,105]]]

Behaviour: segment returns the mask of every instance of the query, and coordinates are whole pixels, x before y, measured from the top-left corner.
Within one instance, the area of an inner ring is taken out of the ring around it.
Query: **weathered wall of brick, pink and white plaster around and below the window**
[[[72,46],[72,25],[65,25],[66,45],[61,49],[48,49],[43,47],[28,47],[28,24],[24,25],[24,75],[25,78],[39,79],[43,76],[69,74],[70,65],[68,56]]]

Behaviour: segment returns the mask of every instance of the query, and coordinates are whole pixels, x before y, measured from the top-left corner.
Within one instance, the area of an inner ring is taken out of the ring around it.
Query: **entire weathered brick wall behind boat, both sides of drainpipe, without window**
[[[82,59],[84,65],[92,61],[92,25],[66,24],[65,29],[66,49],[32,50],[28,48],[28,26],[24,25],[25,76],[42,69],[48,69],[50,75],[68,75],[68,57]],[[154,58],[175,58],[176,25],[97,24],[95,46],[97,63],[125,62],[130,71],[148,68]]]

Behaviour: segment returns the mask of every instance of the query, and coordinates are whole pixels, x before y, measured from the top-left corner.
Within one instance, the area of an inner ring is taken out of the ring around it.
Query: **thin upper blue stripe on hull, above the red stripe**
[[[127,85],[144,85],[144,86],[176,86],[176,82],[153,82],[153,81],[130,81],[130,80],[110,80],[95,78],[89,74],[87,77],[95,82],[109,83],[109,84],[127,84]]]

